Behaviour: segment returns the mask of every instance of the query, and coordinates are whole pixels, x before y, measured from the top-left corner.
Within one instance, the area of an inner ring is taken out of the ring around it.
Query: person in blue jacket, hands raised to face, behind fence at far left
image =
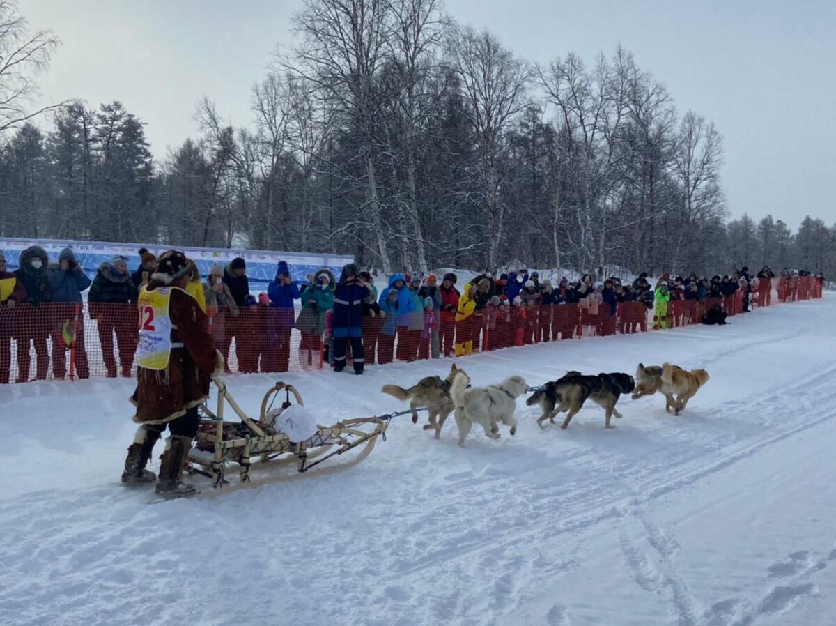
[[[124,258],[117,254],[114,259],[117,257]],[[67,350],[75,347],[75,369],[79,372],[79,378],[87,378],[90,368],[84,348],[84,305],[81,292],[92,281],[84,274],[84,269],[69,248],[61,250],[57,264],[49,265],[47,277],[54,303],[50,307],[53,316],[49,325],[53,345],[53,376],[64,378],[67,375]]]

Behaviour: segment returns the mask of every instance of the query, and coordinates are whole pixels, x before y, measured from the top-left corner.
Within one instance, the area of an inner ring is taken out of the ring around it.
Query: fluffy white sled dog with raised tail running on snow
[[[456,425],[459,427],[459,445],[464,446],[467,434],[474,423],[482,425],[491,439],[499,439],[499,422],[511,427],[511,434],[517,432],[514,410],[517,398],[526,392],[526,383],[521,376],[509,376],[498,385],[471,387],[470,377],[459,370],[450,386],[450,397],[456,406]]]

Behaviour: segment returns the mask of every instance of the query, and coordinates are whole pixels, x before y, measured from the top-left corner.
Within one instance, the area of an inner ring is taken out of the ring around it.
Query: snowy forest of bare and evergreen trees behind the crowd
[[[0,236],[333,252],[385,272],[836,269],[836,225],[729,220],[721,129],[627,49],[522,59],[439,0],[306,0],[293,30],[240,95],[249,126],[208,94],[196,136],[152,154],[118,101],[28,109],[59,41],[0,0]]]

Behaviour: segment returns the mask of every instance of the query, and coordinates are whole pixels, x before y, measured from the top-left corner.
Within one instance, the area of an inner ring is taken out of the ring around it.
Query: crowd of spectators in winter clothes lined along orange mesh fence
[[[20,254],[18,269],[6,269],[0,254],[0,383],[12,372],[16,345],[17,382],[48,377],[90,376],[85,326],[95,322],[108,377],[130,377],[139,323],[135,302],[155,269],[156,259],[140,250],[140,265],[115,255],[102,263],[91,281],[71,249],[54,263],[39,246]],[[347,265],[339,279],[319,269],[293,280],[280,262],[266,292],[253,295],[247,264],[236,258],[214,264],[201,279],[190,263],[186,291],[206,311],[215,345],[227,368],[231,350],[238,372],[286,372],[295,365],[335,370],[364,363],[385,364],[422,358],[464,356],[546,341],[665,329],[686,324],[724,324],[726,318],[771,303],[821,297],[823,276],[768,267],[752,274],[747,267],[729,275],[671,276],[653,281],[647,273],[628,282],[610,276],[594,281],[550,280],[517,269],[483,272],[461,284],[453,273],[421,276],[408,272],[385,281],[380,294],[375,277]],[[83,292],[89,290],[84,305]],[[296,331],[296,332],[294,332]],[[93,340],[94,341],[94,340]],[[295,351],[295,355],[293,352]],[[69,372],[68,372],[69,354]],[[98,350],[97,350],[98,356]]]

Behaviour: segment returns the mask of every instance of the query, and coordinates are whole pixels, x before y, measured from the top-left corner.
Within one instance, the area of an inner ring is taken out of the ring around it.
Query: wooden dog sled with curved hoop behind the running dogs
[[[280,408],[271,411],[280,393],[284,393],[284,401]],[[293,443],[288,435],[278,433],[268,425],[269,418],[278,417],[293,406],[291,398],[299,406],[304,405],[301,394],[293,385],[277,382],[264,394],[259,417],[254,420],[238,406],[226,385],[218,385],[217,410],[213,412],[205,402],[201,404],[204,417],[188,457],[191,471],[212,479],[213,489],[201,491],[194,497],[212,498],[239,489],[335,474],[369,456],[377,438],[386,432],[385,419],[345,419],[333,426],[318,425],[312,437]],[[224,406],[227,403],[237,413],[240,422],[224,421]],[[362,447],[359,453],[348,461],[328,463],[329,459],[359,447]],[[227,464],[230,463],[237,463],[240,467],[240,480],[234,485],[226,478]],[[279,469],[294,463],[297,464],[296,473],[282,473]]]

